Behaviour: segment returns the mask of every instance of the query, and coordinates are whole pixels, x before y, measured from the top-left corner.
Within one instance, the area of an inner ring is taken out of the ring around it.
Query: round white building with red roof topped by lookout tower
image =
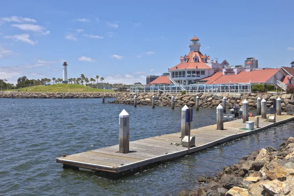
[[[180,57],[180,63],[171,69],[171,78],[182,85],[194,84],[196,81],[221,72],[221,64],[210,60],[210,56],[200,52],[199,39],[194,36],[189,43],[190,52]]]

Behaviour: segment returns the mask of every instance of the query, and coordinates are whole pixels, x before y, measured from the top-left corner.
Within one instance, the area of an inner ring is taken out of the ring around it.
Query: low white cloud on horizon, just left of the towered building
[[[108,82],[111,84],[114,83],[123,83],[123,84],[134,84],[135,82],[141,82],[142,84],[146,83],[145,75],[133,76],[130,74],[125,74],[124,76],[121,74],[111,75],[104,77],[105,80],[103,82]]]

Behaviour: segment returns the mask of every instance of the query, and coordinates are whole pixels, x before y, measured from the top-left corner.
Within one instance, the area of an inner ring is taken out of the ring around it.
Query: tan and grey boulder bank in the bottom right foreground
[[[294,196],[294,137],[279,149],[255,150],[216,176],[198,181],[205,186],[178,196]]]

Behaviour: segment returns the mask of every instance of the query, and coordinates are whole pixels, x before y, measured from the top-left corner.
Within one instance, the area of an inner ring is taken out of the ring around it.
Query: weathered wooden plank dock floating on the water
[[[283,113],[282,116],[276,116],[276,125],[292,120],[294,120],[294,116]],[[249,117],[249,121],[254,122],[254,117]],[[224,130],[217,130],[217,124],[192,129],[191,137],[195,136],[196,147],[191,147],[190,153],[243,137],[272,126],[274,126],[274,123],[265,122],[265,119],[260,118],[260,128],[251,131],[240,129],[245,128],[243,120],[225,122],[223,124]],[[58,157],[56,158],[56,162],[62,163],[64,166],[69,165],[106,172],[120,173],[132,171],[133,169],[147,166],[148,164],[188,154],[187,147],[171,145],[171,143],[180,143],[180,141],[181,133],[172,133],[132,141],[129,143],[130,153],[127,154],[118,153],[119,145],[115,145],[66,157]]]

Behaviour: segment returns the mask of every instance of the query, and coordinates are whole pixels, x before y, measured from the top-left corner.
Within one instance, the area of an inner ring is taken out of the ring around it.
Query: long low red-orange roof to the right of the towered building
[[[215,73],[212,76],[201,80],[208,80],[205,84],[211,84],[212,82],[215,82],[214,84],[249,83],[250,80],[251,83],[264,83],[278,71],[280,71],[280,69],[253,70],[251,72],[242,71],[234,75],[222,75],[222,73]]]

